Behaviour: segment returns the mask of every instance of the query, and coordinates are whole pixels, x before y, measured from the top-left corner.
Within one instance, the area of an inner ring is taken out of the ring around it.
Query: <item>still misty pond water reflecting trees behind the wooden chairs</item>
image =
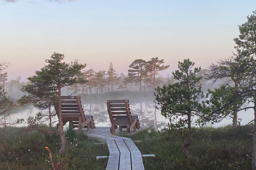
[[[141,127],[150,127],[154,126],[157,129],[167,127],[168,126],[168,119],[165,119],[161,112],[154,107],[154,102],[151,101],[145,101],[145,100],[129,100],[130,102],[130,109],[132,115],[138,115],[140,126]],[[110,127],[111,123],[109,120],[108,112],[107,112],[107,104],[106,101],[82,101],[82,106],[84,109],[85,115],[92,115],[95,126],[97,127]],[[52,108],[54,109],[54,108]],[[12,118],[14,119],[27,119],[28,116],[34,116],[36,113],[38,113],[39,110],[36,108],[30,106],[24,108],[24,110],[13,113]],[[47,114],[48,110],[42,111],[42,113]],[[238,118],[242,119],[241,125],[245,125],[249,123],[251,120],[253,120],[253,110],[247,110],[238,112]],[[54,117],[54,121],[57,121],[58,118]],[[218,124],[214,124],[212,126],[219,127],[219,126],[226,126],[232,124],[231,119],[224,119]],[[26,123],[23,123],[19,126],[24,126]]]

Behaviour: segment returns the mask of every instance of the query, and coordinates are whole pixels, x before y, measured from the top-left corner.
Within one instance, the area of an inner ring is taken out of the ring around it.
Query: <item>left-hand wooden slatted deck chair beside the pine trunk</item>
[[[87,131],[95,128],[92,115],[84,115],[80,96],[62,96],[61,100],[63,126],[69,122],[69,126],[72,128],[78,128],[79,132],[81,132],[82,128],[87,128]],[[55,110],[59,116],[57,105],[55,106]]]

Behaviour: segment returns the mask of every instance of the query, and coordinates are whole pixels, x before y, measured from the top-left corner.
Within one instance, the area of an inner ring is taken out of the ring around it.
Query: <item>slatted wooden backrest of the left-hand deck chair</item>
[[[61,97],[61,115],[81,117],[82,122],[85,122],[84,110],[81,104],[80,96],[62,96]]]

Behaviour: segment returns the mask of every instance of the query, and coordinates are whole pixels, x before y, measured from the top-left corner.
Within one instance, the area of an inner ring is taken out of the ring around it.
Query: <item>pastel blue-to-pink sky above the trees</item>
[[[255,0],[0,0],[0,62],[22,81],[54,51],[125,75],[139,58],[164,58],[163,76],[184,58],[206,68],[232,55],[237,25],[254,10]]]

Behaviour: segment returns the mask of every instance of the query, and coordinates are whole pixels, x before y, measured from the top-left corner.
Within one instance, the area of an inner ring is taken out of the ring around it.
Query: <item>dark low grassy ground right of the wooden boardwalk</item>
[[[182,151],[180,137],[170,130],[162,133],[142,131],[132,136],[142,154],[155,154],[155,158],[143,158],[145,170],[249,170],[252,154],[253,126],[220,128],[194,128],[193,143],[188,150],[188,159]],[[143,137],[144,136],[144,137]]]

